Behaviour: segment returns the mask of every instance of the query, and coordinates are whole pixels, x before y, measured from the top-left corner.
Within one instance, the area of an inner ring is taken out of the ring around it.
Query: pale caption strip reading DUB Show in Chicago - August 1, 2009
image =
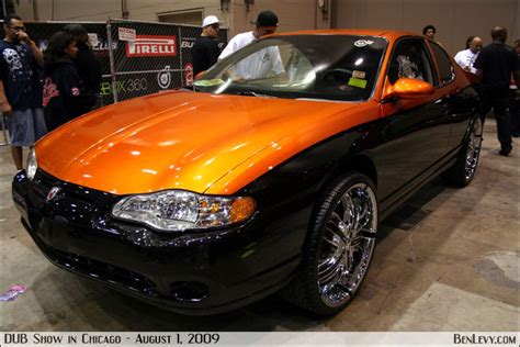
[[[0,344],[9,347],[296,347],[296,346],[518,346],[518,332],[450,332],[450,333],[331,333],[331,332],[0,332]]]

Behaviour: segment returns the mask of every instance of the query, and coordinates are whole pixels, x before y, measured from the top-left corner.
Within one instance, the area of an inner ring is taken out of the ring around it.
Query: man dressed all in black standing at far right
[[[491,30],[493,43],[481,51],[474,68],[482,76],[484,114],[493,108],[497,119],[500,155],[508,156],[512,149],[511,128],[509,121],[509,83],[515,76],[520,86],[520,67],[517,54],[511,46],[506,45],[507,31],[496,26]]]

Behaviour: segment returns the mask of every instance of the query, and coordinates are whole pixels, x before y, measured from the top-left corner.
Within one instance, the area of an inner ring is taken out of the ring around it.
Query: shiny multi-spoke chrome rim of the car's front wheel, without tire
[[[350,187],[332,210],[324,231],[318,257],[321,300],[339,306],[357,292],[374,251],[377,203],[365,183]]]

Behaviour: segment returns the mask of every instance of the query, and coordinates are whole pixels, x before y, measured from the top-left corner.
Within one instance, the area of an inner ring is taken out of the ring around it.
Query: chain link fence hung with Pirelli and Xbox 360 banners
[[[0,23],[3,24],[2,21]],[[45,52],[49,37],[70,23],[89,33],[92,51],[101,64],[100,91],[103,104],[189,87],[193,82],[191,48],[201,35],[200,26],[110,20],[108,22],[26,22],[31,38]],[[0,35],[4,36],[3,25]],[[227,30],[219,31],[221,49],[227,43]],[[2,115],[0,145],[9,143]]]

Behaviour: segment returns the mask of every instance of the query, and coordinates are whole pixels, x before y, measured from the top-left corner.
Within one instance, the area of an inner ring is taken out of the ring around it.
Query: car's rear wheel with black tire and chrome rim
[[[477,115],[470,123],[467,134],[459,152],[455,164],[442,174],[449,184],[466,187],[473,181],[482,149],[483,119]]]

